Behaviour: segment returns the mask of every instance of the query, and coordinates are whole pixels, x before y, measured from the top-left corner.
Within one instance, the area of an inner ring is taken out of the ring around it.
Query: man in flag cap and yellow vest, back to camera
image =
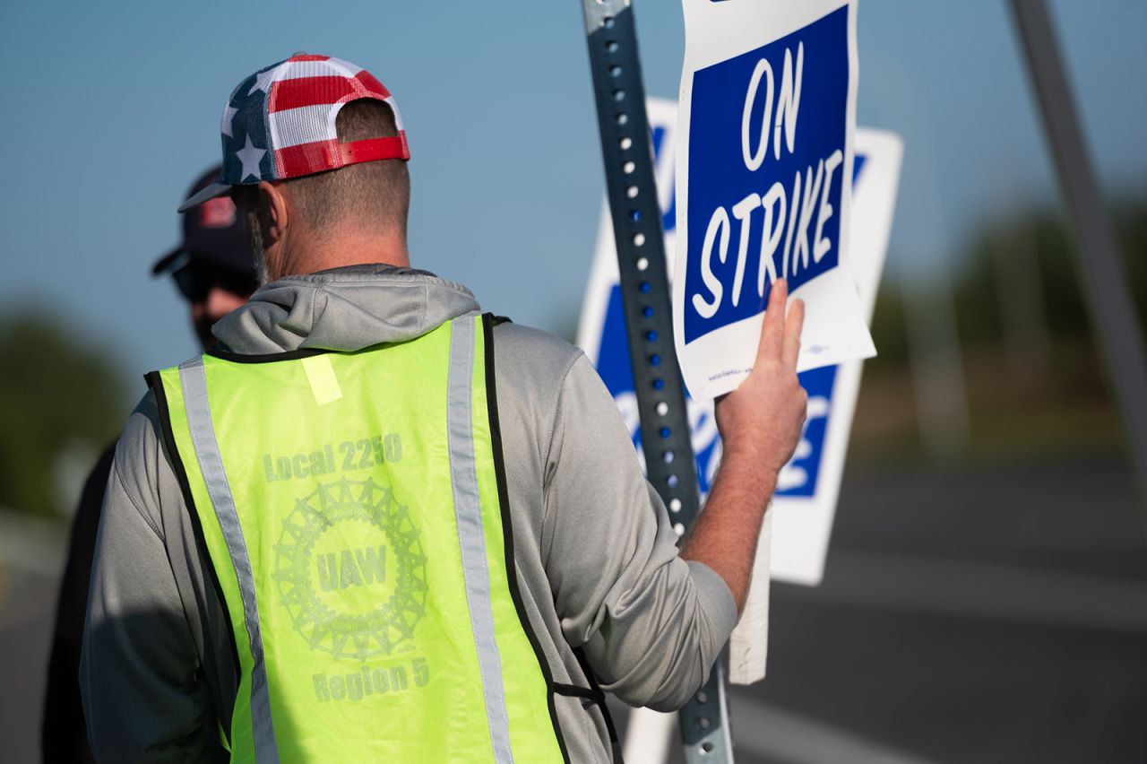
[[[108,488],[81,685],[108,761],[611,756],[601,686],[671,709],[743,605],[804,419],[803,307],[756,368],[678,554],[585,357],[409,267],[409,153],[365,70],[245,78],[221,184],[267,283],[149,375]],[[229,754],[228,750],[229,749]]]

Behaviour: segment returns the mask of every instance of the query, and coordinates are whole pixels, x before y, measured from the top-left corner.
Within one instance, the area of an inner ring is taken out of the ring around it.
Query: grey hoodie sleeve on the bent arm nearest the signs
[[[612,397],[584,356],[570,366],[545,462],[543,549],[562,632],[602,687],[680,708],[736,622],[725,582],[678,556]]]

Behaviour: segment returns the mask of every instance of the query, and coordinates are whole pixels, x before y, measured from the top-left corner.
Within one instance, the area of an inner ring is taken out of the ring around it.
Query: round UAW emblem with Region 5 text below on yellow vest
[[[315,453],[312,465],[325,465]],[[311,649],[356,662],[415,649],[427,559],[408,507],[389,488],[370,477],[319,483],[296,500],[274,548],[280,603]],[[428,679],[426,660],[415,657],[317,673],[314,691],[321,701],[358,700]]]

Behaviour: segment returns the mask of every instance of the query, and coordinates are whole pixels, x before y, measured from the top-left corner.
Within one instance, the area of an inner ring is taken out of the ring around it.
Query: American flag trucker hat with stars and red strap
[[[389,106],[398,135],[340,143],[338,110],[359,99]],[[361,67],[307,53],[241,81],[224,107],[220,132],[219,181],[188,197],[179,205],[180,212],[227,194],[232,186],[301,178],[359,162],[411,158],[403,118],[382,83]]]

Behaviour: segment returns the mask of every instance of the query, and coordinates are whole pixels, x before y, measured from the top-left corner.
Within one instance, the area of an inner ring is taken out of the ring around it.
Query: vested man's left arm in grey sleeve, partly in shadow
[[[79,676],[88,738],[102,762],[227,761],[167,559],[154,410],[146,398],[128,419],[104,494]]]

